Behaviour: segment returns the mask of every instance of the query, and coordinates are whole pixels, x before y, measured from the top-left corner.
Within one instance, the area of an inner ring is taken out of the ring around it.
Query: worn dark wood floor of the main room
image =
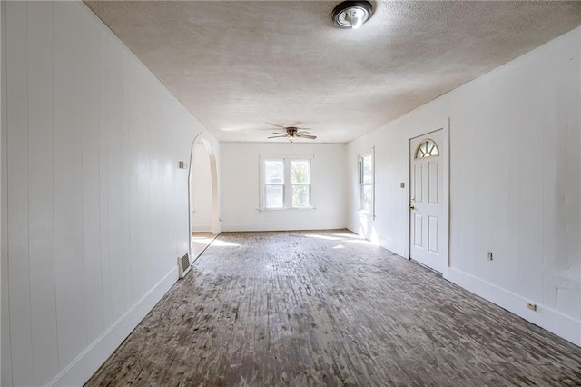
[[[87,382],[580,385],[581,348],[347,231],[222,233]]]

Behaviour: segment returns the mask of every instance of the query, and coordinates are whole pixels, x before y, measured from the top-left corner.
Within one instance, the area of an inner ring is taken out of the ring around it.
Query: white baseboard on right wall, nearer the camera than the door
[[[496,303],[508,312],[515,313],[568,342],[581,346],[581,321],[539,303],[537,303],[537,311],[531,311],[527,308],[527,303],[531,300],[458,269],[451,267],[448,269],[448,281],[456,283],[491,303]]]

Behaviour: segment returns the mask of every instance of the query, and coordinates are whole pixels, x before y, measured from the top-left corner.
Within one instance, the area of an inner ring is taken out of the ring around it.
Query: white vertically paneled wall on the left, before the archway
[[[203,128],[82,3],[5,22],[2,385],[80,385],[177,279]]]

